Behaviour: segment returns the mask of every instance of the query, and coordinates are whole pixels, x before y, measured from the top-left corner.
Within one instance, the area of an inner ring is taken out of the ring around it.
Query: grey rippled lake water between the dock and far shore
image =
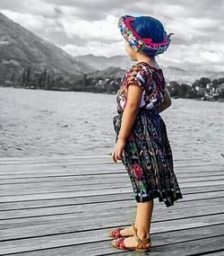
[[[0,87],[0,156],[110,154],[116,95]],[[223,159],[224,103],[173,99],[160,113],[174,158]]]

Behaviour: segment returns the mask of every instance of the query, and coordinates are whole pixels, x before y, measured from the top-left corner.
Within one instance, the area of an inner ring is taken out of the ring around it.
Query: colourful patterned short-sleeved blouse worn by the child
[[[166,83],[162,70],[145,62],[139,62],[132,66],[121,80],[120,88],[116,93],[116,110],[118,114],[125,110],[128,86],[130,84],[137,84],[142,88],[142,100],[139,108],[152,109],[163,102]]]

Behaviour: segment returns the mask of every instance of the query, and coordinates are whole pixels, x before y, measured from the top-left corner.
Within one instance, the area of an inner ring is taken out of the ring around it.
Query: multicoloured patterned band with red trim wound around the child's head
[[[131,26],[131,22],[134,21],[135,17],[130,15],[122,16],[118,21],[118,28],[121,31],[125,40],[127,40],[134,49],[141,49],[150,55],[158,55],[168,49],[170,43],[170,36],[173,33],[167,34],[164,31],[164,38],[162,42],[152,42],[151,38],[144,39],[134,31]]]

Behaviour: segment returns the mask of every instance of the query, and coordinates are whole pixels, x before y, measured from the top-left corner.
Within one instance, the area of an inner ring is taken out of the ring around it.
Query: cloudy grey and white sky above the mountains
[[[125,55],[121,15],[149,15],[175,33],[161,66],[224,70],[224,0],[0,0],[0,12],[73,56]]]

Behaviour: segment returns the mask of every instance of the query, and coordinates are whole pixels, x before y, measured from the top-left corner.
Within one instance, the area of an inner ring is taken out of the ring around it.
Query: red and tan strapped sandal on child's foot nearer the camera
[[[111,241],[110,243],[118,248],[118,249],[122,249],[122,250],[128,250],[128,251],[133,251],[135,250],[136,252],[150,252],[150,249],[151,249],[151,237],[150,238],[144,238],[144,239],[140,239],[139,236],[137,234],[134,234],[134,237],[136,238],[138,244],[137,246],[135,247],[126,247],[125,246],[125,243],[124,243],[124,240],[125,240],[125,237],[120,237],[116,240],[115,243],[113,243],[113,241]],[[147,246],[146,247],[146,244],[147,243],[150,243],[150,246]]]

